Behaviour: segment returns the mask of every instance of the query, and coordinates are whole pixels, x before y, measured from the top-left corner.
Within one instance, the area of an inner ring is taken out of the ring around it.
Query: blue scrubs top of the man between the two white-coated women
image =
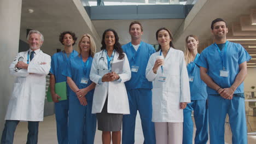
[[[146,67],[149,57],[155,52],[154,47],[141,41],[137,51],[132,46],[131,42],[123,45],[122,48],[127,55],[130,68],[132,68],[132,66],[139,67],[137,73],[131,72],[131,79],[125,82],[126,89],[152,89],[152,82],[146,79]]]

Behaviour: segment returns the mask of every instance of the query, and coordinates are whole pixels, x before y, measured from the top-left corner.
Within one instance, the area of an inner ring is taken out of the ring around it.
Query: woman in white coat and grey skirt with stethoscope
[[[107,29],[102,36],[101,51],[94,56],[90,79],[96,83],[92,113],[97,114],[98,130],[102,143],[121,143],[123,114],[129,114],[129,101],[124,85],[130,80],[129,61],[121,49],[114,29]],[[119,73],[112,65],[118,65]],[[112,136],[111,132],[112,131]]]

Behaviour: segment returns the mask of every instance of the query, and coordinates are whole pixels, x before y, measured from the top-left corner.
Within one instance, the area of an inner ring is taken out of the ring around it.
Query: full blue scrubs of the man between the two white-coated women
[[[125,82],[131,114],[123,117],[122,143],[135,143],[137,110],[141,117],[144,143],[155,143],[155,128],[152,122],[152,82],[146,79],[148,59],[155,49],[143,41],[139,44],[137,51],[131,43],[123,45],[122,48],[131,67],[131,80]]]

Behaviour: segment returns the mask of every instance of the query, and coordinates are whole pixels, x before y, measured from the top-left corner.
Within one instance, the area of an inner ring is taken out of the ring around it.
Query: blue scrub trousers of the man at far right
[[[220,95],[208,95],[210,143],[224,144],[225,118],[229,115],[232,143],[247,143],[245,99],[224,99]]]

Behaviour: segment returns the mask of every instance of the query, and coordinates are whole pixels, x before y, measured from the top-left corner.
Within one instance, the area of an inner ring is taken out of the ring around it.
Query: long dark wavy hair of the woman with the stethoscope
[[[104,33],[102,34],[102,41],[101,41],[102,46],[101,46],[101,50],[106,49],[106,44],[105,44],[104,39],[105,39],[106,33],[109,32],[109,31],[113,32],[114,35],[115,35],[114,50],[119,53],[118,59],[123,59],[123,58],[124,58],[124,53],[123,53],[123,49],[122,49],[122,47],[121,47],[121,44],[119,43],[118,34],[117,34],[117,32],[115,32],[115,30],[112,29],[112,28],[106,29],[106,30],[104,31]]]

